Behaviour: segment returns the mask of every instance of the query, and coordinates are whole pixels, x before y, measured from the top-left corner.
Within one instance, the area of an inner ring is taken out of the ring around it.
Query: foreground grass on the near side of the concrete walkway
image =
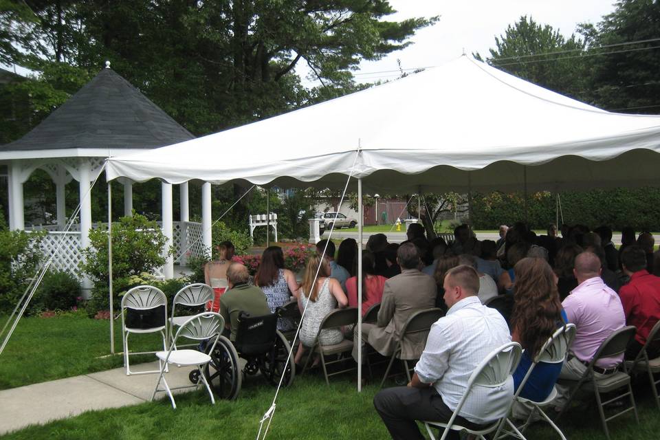
[[[33,426],[7,434],[3,440],[38,439],[195,439],[252,440],[259,420],[270,407],[274,387],[258,379],[244,382],[236,401],[210,405],[205,391],[177,397],[177,410],[168,399],[139,406],[87,412],[78,417]],[[320,375],[296,377],[291,388],[281,391],[269,439],[387,439],[388,433],[373,409],[378,388],[338,377],[327,386]],[[639,395],[639,393],[637,394]],[[660,430],[657,408],[647,397],[640,399],[640,425],[632,415],[610,423],[613,439],[654,439]],[[593,405],[575,408],[560,426],[569,439],[604,438]],[[528,439],[555,440],[557,435],[542,424],[526,432]]]

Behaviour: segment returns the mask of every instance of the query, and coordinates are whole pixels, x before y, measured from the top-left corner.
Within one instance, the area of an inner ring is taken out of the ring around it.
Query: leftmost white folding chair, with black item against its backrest
[[[144,355],[155,351],[129,353],[129,335],[131,333],[161,333],[163,349],[167,350],[167,297],[162,290],[153,286],[137,286],[126,292],[122,298],[122,343],[124,344],[124,365],[126,375],[153,374],[158,370],[131,371],[130,355]]]

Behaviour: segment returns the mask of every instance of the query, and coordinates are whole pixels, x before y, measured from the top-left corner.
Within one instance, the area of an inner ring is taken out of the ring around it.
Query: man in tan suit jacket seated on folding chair
[[[397,263],[401,266],[401,274],[385,282],[377,323],[362,324],[362,341],[369,342],[371,347],[384,356],[392,355],[396,349],[401,329],[410,315],[435,307],[437,296],[434,279],[419,271],[419,251],[414,244],[404,243],[399,246]],[[406,338],[401,347],[401,359],[419,359],[425,344],[425,334]],[[358,359],[358,344],[353,347],[353,358]]]

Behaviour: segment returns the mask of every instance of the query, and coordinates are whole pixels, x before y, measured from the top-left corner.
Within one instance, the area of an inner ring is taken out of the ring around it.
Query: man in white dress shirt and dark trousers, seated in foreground
[[[474,268],[454,267],[443,287],[449,310],[432,325],[412,380],[407,387],[382,390],[373,399],[395,440],[423,439],[415,420],[448,421],[467,391],[472,371],[494,349],[511,341],[504,318],[481,305],[476,296],[479,277]],[[513,395],[512,378],[500,388],[475,387],[456,423],[476,428],[499,419]]]

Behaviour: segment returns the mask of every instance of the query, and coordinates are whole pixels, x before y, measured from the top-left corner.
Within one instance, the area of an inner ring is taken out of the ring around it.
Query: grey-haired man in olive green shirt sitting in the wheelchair
[[[248,285],[249,278],[248,268],[240,263],[232,263],[227,268],[229,290],[220,297],[220,314],[225,319],[225,327],[231,329],[232,341],[236,340],[241,311],[250,316],[270,314],[265,294],[259,287]]]

